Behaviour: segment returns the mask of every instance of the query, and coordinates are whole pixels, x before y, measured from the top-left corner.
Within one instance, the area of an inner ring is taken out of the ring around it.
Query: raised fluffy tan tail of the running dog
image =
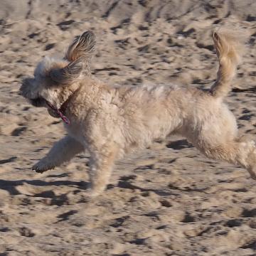
[[[213,33],[213,41],[218,55],[219,69],[217,80],[210,87],[213,97],[225,97],[232,89],[231,81],[235,77],[236,69],[241,61],[244,39],[235,36],[232,31],[218,31]]]

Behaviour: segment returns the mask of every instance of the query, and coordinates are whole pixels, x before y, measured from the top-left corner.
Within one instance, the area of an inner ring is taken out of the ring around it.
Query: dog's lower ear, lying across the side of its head
[[[70,85],[79,80],[82,69],[83,63],[78,59],[68,64],[65,68],[50,70],[50,78],[60,85]]]

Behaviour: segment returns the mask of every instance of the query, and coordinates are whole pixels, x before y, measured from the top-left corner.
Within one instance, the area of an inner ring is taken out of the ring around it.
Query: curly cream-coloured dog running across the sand
[[[241,59],[239,37],[215,31],[219,69],[210,90],[176,85],[107,85],[90,72],[95,35],[82,33],[63,59],[45,57],[33,78],[25,78],[21,95],[63,119],[68,135],[33,166],[43,173],[90,153],[90,195],[102,193],[116,159],[154,140],[181,134],[210,159],[239,165],[256,179],[256,147],[238,137],[235,117],[223,99]]]

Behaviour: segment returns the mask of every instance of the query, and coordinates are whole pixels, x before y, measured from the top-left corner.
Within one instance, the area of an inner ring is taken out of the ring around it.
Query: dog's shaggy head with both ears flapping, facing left
[[[38,63],[33,78],[25,78],[20,93],[31,105],[54,110],[67,100],[68,92],[82,78],[90,75],[90,59],[95,50],[95,35],[87,31],[75,38],[63,59],[45,57]]]

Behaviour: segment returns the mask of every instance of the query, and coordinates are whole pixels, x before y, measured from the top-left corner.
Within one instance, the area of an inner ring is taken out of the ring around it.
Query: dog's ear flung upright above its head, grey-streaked
[[[81,36],[77,36],[73,43],[70,44],[65,59],[75,61],[90,61],[93,52],[95,51],[95,34],[92,31],[86,31]]]

